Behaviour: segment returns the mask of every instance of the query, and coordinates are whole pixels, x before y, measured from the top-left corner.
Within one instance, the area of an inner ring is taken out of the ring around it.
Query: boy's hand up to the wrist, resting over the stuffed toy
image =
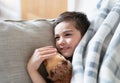
[[[27,69],[37,71],[44,60],[51,58],[56,54],[57,50],[53,46],[46,46],[36,49],[28,62]]]

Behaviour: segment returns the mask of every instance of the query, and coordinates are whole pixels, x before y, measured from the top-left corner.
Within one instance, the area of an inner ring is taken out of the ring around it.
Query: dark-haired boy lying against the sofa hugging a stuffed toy
[[[57,52],[72,61],[72,55],[81,38],[86,33],[90,22],[85,14],[80,12],[64,12],[55,20],[55,45],[38,48],[28,62],[27,69],[33,83],[46,83],[38,72],[42,62],[52,58]]]

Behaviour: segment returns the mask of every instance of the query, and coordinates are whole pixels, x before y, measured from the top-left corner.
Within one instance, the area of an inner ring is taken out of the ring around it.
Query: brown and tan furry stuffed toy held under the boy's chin
[[[72,76],[72,65],[62,55],[57,54],[54,57],[45,60],[44,65],[48,72],[48,78],[53,83],[70,83]]]

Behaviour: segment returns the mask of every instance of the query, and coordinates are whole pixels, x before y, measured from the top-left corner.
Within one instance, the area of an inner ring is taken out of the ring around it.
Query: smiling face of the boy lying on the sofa
[[[71,57],[81,40],[81,33],[72,22],[61,22],[55,27],[55,41],[58,51],[66,58]]]

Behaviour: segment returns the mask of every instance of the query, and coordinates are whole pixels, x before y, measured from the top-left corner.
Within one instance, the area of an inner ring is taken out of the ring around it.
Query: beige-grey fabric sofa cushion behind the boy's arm
[[[53,21],[0,21],[0,83],[32,83],[27,62],[35,49],[54,45]],[[39,71],[46,76],[43,65]]]

